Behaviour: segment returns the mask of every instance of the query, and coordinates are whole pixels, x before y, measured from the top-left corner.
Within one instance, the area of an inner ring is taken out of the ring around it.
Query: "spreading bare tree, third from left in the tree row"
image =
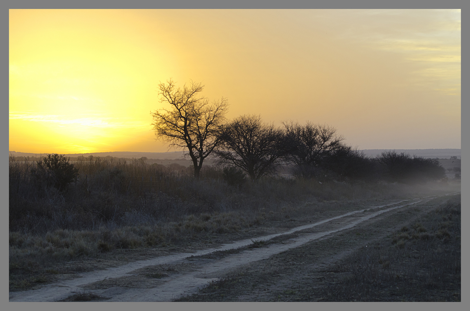
[[[336,134],[334,127],[309,121],[305,125],[293,121],[282,124],[286,130],[287,159],[305,171],[308,176],[304,177],[312,177],[315,167],[321,166],[333,151],[342,147],[344,138]]]

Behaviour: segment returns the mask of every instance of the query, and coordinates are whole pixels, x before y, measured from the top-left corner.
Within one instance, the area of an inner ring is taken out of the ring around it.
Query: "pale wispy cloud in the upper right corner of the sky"
[[[337,38],[399,54],[418,84],[460,88],[460,10],[335,10]],[[329,23],[324,20],[324,23]],[[460,93],[460,92],[458,92]]]

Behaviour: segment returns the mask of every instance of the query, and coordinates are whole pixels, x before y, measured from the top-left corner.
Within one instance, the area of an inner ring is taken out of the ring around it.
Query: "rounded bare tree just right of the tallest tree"
[[[282,162],[283,131],[266,124],[260,116],[244,115],[227,124],[216,149],[219,164],[239,167],[251,179],[275,171]]]

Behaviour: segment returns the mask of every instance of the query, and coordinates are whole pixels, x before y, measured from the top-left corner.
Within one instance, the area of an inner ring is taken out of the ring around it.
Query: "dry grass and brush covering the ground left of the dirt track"
[[[78,181],[59,192],[34,182],[29,174],[34,163],[10,157],[10,290],[33,288],[71,273],[75,268],[63,263],[81,258],[168,249],[289,220],[293,225],[293,218],[352,209],[364,202],[443,193],[452,187],[333,180],[320,184],[315,179],[283,178],[230,186],[222,170],[211,166],[203,167],[201,179],[192,179],[190,168],[176,163],[81,158],[75,165]],[[163,181],[149,185],[136,176],[160,176]],[[253,247],[260,246],[262,242],[254,241]]]

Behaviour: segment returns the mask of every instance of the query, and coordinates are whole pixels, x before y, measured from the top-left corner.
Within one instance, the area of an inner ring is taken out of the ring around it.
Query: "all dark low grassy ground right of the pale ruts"
[[[431,200],[232,270],[176,301],[461,301],[460,215],[460,194]]]

